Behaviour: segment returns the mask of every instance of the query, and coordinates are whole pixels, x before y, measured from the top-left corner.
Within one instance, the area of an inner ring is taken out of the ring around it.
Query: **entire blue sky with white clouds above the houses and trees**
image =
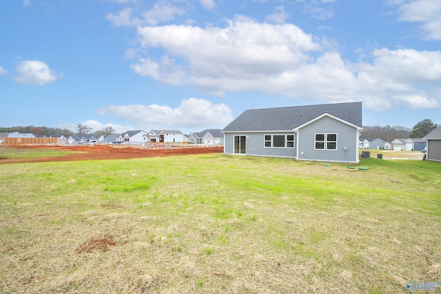
[[[0,127],[189,134],[352,101],[441,124],[440,0],[0,1]]]

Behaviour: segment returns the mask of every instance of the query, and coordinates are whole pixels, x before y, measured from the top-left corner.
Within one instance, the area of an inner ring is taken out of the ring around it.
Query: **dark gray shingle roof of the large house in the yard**
[[[362,127],[362,103],[335,103],[245,110],[223,132],[287,131],[322,114]]]

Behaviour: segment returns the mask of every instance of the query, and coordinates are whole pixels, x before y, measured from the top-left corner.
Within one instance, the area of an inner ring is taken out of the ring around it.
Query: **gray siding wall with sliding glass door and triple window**
[[[294,148],[283,147],[265,147],[265,135],[294,135]],[[294,132],[249,132],[249,133],[227,133],[225,134],[225,154],[233,154],[234,152],[234,136],[247,136],[247,155],[252,156],[274,156],[296,158],[296,140],[297,136]]]

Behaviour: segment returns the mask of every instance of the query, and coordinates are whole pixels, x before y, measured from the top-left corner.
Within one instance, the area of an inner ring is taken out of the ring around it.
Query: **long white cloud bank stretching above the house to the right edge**
[[[376,110],[441,105],[441,51],[382,48],[351,63],[327,38],[289,23],[241,16],[225,27],[145,26],[137,34],[132,69],[169,85],[196,85],[218,96],[248,91],[329,103],[364,101]],[[143,53],[160,50],[162,56]]]

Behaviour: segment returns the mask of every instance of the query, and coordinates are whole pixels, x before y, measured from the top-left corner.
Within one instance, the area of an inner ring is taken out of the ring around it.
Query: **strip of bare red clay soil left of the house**
[[[84,153],[67,154],[60,157],[33,158],[30,160],[0,157],[1,163],[14,162],[52,162],[52,161],[76,161],[76,160],[111,160],[147,158],[156,156],[176,156],[189,154],[223,153],[223,147],[173,147],[169,149],[146,149],[143,147],[91,145],[91,146],[47,146],[47,145],[19,145],[5,146],[19,149],[53,149],[57,151],[81,151]],[[0,147],[1,153],[1,147]]]

